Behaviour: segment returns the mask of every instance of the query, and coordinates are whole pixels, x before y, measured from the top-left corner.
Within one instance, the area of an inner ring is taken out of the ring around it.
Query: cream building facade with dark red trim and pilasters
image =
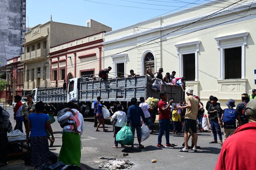
[[[80,76],[92,79],[95,74],[97,76],[103,63],[101,58],[104,32],[51,47],[50,85],[62,87],[67,79]]]

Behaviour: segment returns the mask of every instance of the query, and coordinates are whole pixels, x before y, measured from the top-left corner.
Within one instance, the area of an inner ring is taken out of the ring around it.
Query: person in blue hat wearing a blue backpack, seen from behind
[[[220,121],[221,126],[224,127],[224,137],[223,142],[226,140],[228,136],[231,136],[236,130],[236,119],[238,120],[239,125],[242,125],[240,120],[239,113],[233,108],[235,107],[235,101],[233,99],[229,99],[226,102],[228,108],[225,108],[222,112]]]

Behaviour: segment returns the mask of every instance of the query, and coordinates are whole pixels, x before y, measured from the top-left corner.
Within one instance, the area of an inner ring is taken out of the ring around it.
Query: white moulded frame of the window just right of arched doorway
[[[192,42],[187,42],[187,43],[182,43],[182,44],[176,44],[175,47],[177,48],[177,54],[179,56],[179,77],[183,77],[183,55],[185,54],[195,54],[195,80],[198,81],[198,53],[199,53],[199,45],[201,41],[192,41]],[[181,47],[188,47],[188,46],[193,46],[195,45],[196,48],[193,48],[191,50],[181,50]]]

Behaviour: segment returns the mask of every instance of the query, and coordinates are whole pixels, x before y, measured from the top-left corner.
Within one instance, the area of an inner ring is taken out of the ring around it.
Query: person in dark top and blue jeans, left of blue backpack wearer
[[[217,104],[218,98],[212,97],[211,104],[208,108],[208,115],[211,120],[211,130],[213,133],[213,141],[209,142],[209,144],[216,144],[217,142],[217,133],[220,140],[220,146],[222,146],[222,134],[220,129],[220,118],[222,114],[222,109],[219,104]]]

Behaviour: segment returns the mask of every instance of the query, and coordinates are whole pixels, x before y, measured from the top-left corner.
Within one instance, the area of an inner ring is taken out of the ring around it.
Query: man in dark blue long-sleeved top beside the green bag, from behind
[[[131,124],[133,137],[134,137],[135,129],[136,129],[137,138],[138,138],[138,142],[139,142],[139,149],[142,149],[142,148],[144,148],[144,146],[141,145],[141,121],[140,121],[140,116],[142,117],[144,122],[146,122],[146,119],[145,119],[145,115],[144,115],[141,107],[139,107],[137,105],[137,99],[132,98],[131,103],[132,103],[132,106],[129,106],[128,113],[127,113],[127,126],[129,126],[129,124]],[[134,148],[134,146],[132,144],[131,149],[133,149],[133,148]]]

